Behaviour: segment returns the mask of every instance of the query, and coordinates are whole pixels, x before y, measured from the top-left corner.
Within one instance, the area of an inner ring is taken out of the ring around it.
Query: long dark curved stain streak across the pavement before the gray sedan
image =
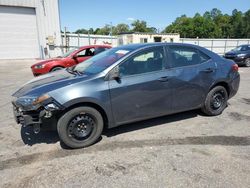
[[[123,141],[110,142],[109,144],[94,145],[85,149],[78,150],[53,150],[43,153],[35,153],[24,155],[12,159],[0,161],[0,170],[20,167],[39,161],[48,161],[55,158],[64,158],[67,156],[79,155],[84,153],[96,153],[100,151],[112,151],[115,149],[124,148],[142,148],[153,146],[166,145],[225,145],[225,146],[249,146],[250,136],[235,137],[235,136],[201,136],[201,137],[186,137],[180,139],[157,139],[157,140],[138,140],[138,141]],[[208,153],[200,152],[203,155]],[[122,167],[121,167],[122,168]]]

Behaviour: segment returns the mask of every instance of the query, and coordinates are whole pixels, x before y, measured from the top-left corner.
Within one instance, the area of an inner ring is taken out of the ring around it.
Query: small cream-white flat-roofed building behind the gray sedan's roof
[[[148,43],[148,42],[179,42],[180,34],[178,33],[139,33],[128,32],[118,36],[118,45],[131,43]]]

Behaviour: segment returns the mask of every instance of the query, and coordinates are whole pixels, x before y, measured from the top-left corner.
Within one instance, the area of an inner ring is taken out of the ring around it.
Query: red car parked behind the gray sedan
[[[70,50],[57,58],[40,61],[32,65],[31,69],[34,76],[39,76],[65,67],[71,67],[109,48],[111,48],[111,46],[107,45],[83,46]]]

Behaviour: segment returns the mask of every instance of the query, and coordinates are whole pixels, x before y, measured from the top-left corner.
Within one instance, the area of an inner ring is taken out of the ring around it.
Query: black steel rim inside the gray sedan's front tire
[[[75,116],[68,125],[68,136],[76,141],[86,140],[95,126],[94,119],[88,114]]]

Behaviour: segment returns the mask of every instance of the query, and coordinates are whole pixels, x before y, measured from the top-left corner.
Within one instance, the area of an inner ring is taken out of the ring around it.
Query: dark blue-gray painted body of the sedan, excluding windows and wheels
[[[211,57],[203,64],[166,69],[140,75],[109,80],[114,67],[131,54],[154,46],[181,45],[199,49]],[[227,83],[230,97],[238,90],[239,74],[232,71],[233,62],[221,58],[205,48],[189,44],[135,44],[133,52],[97,75],[72,75],[61,70],[35,78],[18,90],[14,96],[40,96],[48,93],[59,104],[68,108],[79,103],[93,103],[101,107],[109,127],[148,119],[165,114],[199,108],[209,89],[218,82]],[[208,71],[211,69],[212,71]],[[24,109],[25,110],[25,109]]]

